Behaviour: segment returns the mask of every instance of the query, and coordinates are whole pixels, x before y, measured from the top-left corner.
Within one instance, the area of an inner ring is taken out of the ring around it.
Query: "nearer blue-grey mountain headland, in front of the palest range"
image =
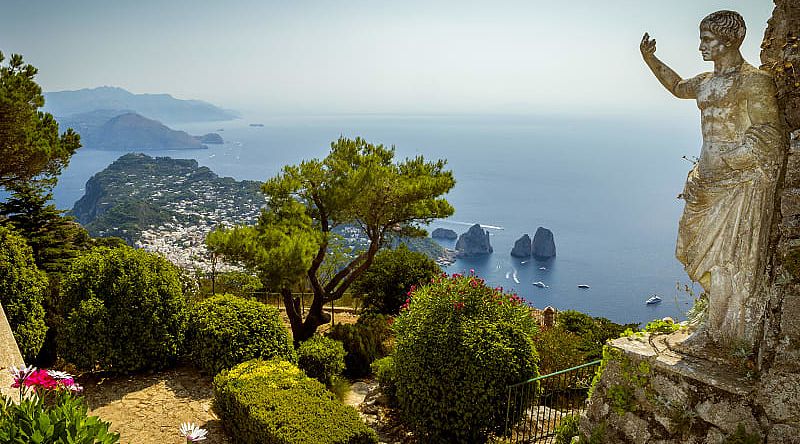
[[[184,131],[170,129],[161,122],[132,112],[123,112],[98,125],[106,117],[104,113],[97,111],[77,116],[79,125],[73,128],[81,135],[83,146],[119,151],[208,148]]]

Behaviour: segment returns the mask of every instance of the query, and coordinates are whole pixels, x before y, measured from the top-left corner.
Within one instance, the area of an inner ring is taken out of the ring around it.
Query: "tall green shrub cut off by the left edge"
[[[44,344],[42,303],[47,286],[47,275],[36,267],[25,239],[0,227],[0,304],[26,361]]]

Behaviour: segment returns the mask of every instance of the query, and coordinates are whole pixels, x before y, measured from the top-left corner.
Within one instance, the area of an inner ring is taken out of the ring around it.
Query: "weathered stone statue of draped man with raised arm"
[[[714,71],[682,79],[655,56],[645,34],[645,63],[669,92],[695,99],[703,147],[686,179],[676,256],[708,295],[707,319],[696,343],[752,346],[764,313],[763,276],[773,197],[785,132],[772,77],[742,57],[745,23],[718,11],[700,23],[700,53]],[[745,341],[745,342],[743,342]]]

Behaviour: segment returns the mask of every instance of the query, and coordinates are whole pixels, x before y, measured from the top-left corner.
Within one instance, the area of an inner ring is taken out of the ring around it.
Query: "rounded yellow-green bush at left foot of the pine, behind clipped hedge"
[[[219,295],[195,304],[189,319],[187,352],[192,363],[209,374],[254,358],[297,359],[275,307]]]

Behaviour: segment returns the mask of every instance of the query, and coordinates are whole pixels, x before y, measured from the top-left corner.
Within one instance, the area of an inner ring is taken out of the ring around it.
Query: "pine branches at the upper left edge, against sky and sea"
[[[71,129],[59,135],[44,106],[37,70],[14,54],[3,63],[0,53],[0,187],[54,178],[67,166],[80,138]]]

